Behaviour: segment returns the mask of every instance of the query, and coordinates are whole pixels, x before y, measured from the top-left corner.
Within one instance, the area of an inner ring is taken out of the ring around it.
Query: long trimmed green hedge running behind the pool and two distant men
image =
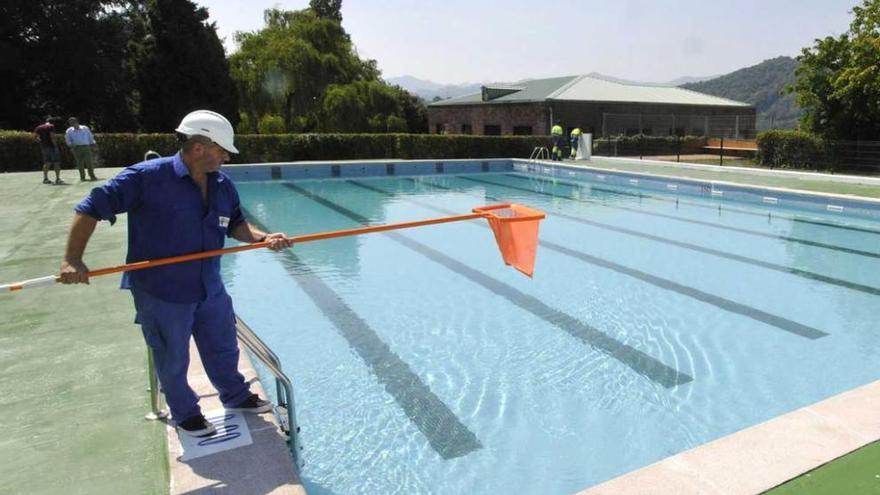
[[[74,168],[73,155],[56,135],[62,168]],[[173,154],[172,134],[96,134],[98,165],[123,167],[143,159],[147,150]],[[528,158],[548,136],[441,136],[435,134],[273,134],[236,136],[241,154],[233,163],[303,160]],[[40,148],[29,132],[0,132],[0,172],[42,169]]]

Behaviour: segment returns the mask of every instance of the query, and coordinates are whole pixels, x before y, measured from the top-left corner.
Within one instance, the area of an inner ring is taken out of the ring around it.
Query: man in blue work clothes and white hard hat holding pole
[[[220,249],[226,237],[268,240],[274,250],[292,245],[283,233],[262,232],[242,215],[235,185],[220,171],[229,153],[238,153],[226,118],[198,110],[184,117],[176,131],[182,142],[179,153],[126,168],[76,206],[61,282],[88,283],[82,256],[97,222],[112,224],[124,212],[128,263]],[[190,336],[227,410],[271,409],[269,402],[251,393],[238,372],[235,316],[220,278],[219,257],[126,272],[122,288],[134,297],[135,322],[153,352],[180,432],[206,436],[215,431],[187,382]]]

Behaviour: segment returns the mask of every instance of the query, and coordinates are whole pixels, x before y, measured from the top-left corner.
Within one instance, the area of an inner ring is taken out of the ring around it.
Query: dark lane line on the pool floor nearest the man
[[[248,212],[244,214],[249,222],[261,230],[272,232],[261,225],[255,216]],[[281,254],[288,273],[364,360],[379,383],[425,435],[440,457],[453,459],[482,448],[477,436],[459,421],[406,362],[391,351],[375,330],[345,304],[339,294],[315,275],[292,250],[284,250]]]

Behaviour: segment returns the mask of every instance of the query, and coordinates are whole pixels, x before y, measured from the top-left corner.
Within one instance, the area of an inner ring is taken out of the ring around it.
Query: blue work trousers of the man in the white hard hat
[[[186,379],[190,336],[220,401],[235,406],[247,399],[250,386],[238,372],[235,315],[225,290],[192,304],[166,302],[137,289],[131,293],[137,310],[135,323],[140,323],[144,340],[153,350],[165,401],[176,422],[201,414],[199,396]]]

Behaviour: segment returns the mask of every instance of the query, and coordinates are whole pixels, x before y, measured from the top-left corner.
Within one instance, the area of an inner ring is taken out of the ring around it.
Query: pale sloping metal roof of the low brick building
[[[748,103],[719,98],[687,89],[647,84],[623,83],[596,76],[568,76],[535,79],[516,84],[525,89],[489,101],[482,93],[442,100],[428,106],[495,105],[543,101],[594,101],[617,103],[660,103],[716,107],[751,107]],[[509,87],[491,86],[490,87]]]

